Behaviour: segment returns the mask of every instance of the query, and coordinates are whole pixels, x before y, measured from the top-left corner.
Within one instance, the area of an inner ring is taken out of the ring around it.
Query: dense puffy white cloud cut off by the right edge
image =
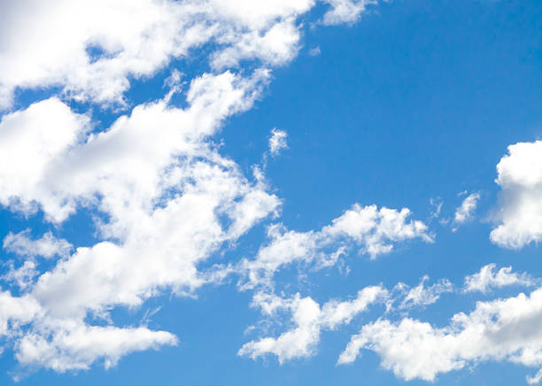
[[[542,141],[515,143],[497,165],[502,197],[493,243],[522,248],[542,239]]]

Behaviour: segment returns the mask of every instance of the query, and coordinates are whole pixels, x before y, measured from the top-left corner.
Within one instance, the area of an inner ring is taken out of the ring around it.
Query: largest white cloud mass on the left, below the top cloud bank
[[[4,204],[26,213],[42,209],[57,223],[91,206],[105,214],[98,235],[111,240],[77,248],[36,281],[32,262],[5,275],[41,310],[14,338],[22,364],[65,371],[105,359],[109,366],[131,351],[176,342],[166,332],[100,328],[83,320],[89,314],[107,318],[114,306],[141,305],[166,289],[197,289],[207,280],[199,262],[275,212],[280,201],[265,183],[248,181],[210,142],[224,118],[252,105],[266,80],[266,71],[245,78],[205,74],[190,83],[186,109],[143,104],[84,141],[78,135],[88,131],[86,116],[56,98],[4,118],[0,135],[11,140],[0,143],[0,153],[10,146],[5,151],[14,155],[41,157],[25,162],[19,174],[10,164],[0,166],[4,181],[20,181],[2,185]],[[58,127],[54,142],[36,135],[47,127]],[[48,234],[30,240],[27,232],[8,235],[4,243],[26,256],[69,248]]]

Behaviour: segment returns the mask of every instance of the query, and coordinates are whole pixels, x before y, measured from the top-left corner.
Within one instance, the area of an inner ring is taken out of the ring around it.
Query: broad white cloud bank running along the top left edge
[[[313,5],[312,0],[273,6],[217,0],[4,4],[0,106],[12,103],[15,89],[36,87],[60,87],[77,100],[127,104],[123,93],[130,78],[149,77],[206,42],[217,44],[215,67],[245,58],[280,65],[295,56],[296,18]]]

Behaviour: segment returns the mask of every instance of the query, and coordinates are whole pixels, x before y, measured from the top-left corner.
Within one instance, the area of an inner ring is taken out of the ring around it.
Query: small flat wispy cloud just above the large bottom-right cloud
[[[465,277],[463,291],[479,291],[487,293],[493,288],[502,288],[508,285],[523,285],[526,287],[535,285],[536,280],[529,274],[516,274],[512,272],[512,266],[503,266],[495,273],[495,264],[488,264],[480,268],[476,274]]]

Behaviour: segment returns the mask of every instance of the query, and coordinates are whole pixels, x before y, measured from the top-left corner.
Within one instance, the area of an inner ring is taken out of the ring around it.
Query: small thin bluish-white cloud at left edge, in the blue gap
[[[10,232],[4,237],[4,250],[15,253],[22,257],[42,256],[52,258],[53,256],[67,256],[73,249],[73,245],[65,239],[58,239],[50,232],[37,240],[32,240],[28,235],[29,229],[12,234]]]

